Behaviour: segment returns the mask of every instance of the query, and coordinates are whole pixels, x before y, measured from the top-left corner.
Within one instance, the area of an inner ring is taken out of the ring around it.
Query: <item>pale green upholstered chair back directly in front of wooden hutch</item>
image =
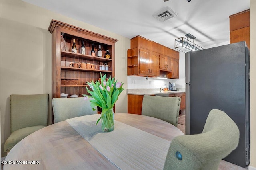
[[[97,109],[92,110],[90,99],[84,98],[53,98],[52,109],[54,123],[64,121],[73,117],[97,114]]]

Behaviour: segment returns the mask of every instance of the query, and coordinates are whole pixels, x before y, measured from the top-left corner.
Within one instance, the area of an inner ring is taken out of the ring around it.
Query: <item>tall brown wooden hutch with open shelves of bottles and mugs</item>
[[[59,98],[61,93],[70,95],[88,94],[86,82],[96,81],[100,78],[100,73],[106,73],[107,77],[115,74],[115,43],[116,39],[106,37],[82,28],[52,20],[48,31],[52,33],[52,98]],[[61,34],[66,41],[66,49],[61,50]],[[75,39],[77,53],[71,52]],[[84,42],[86,53],[81,54],[81,45]],[[94,44],[96,56],[90,54]],[[98,57],[98,49],[101,45],[102,56],[106,50],[110,51],[110,59]],[[80,68],[70,66],[72,63],[90,63],[90,68]],[[108,70],[100,70],[99,65],[107,64]],[[52,123],[53,123],[52,114]]]

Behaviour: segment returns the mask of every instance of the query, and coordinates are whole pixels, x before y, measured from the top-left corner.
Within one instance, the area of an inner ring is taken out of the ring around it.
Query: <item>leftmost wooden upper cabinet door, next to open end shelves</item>
[[[150,54],[148,50],[140,48],[140,74],[149,75],[150,72]]]

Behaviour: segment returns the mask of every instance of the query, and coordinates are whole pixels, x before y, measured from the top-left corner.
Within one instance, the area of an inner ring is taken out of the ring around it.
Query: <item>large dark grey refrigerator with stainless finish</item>
[[[202,133],[212,109],[227,113],[240,131],[238,147],[224,160],[250,162],[250,56],[244,41],[188,52],[186,63],[186,135]]]

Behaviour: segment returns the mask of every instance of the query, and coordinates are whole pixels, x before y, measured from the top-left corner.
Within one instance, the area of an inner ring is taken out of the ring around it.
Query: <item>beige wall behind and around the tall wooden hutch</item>
[[[10,135],[10,94],[49,93],[51,96],[52,38],[47,29],[52,19],[118,39],[115,46],[115,75],[127,88],[126,51],[130,48],[130,39],[21,0],[0,0],[2,149]],[[116,112],[127,113],[126,90],[116,102]],[[50,117],[49,114],[49,122]],[[2,156],[4,155],[2,150]]]

